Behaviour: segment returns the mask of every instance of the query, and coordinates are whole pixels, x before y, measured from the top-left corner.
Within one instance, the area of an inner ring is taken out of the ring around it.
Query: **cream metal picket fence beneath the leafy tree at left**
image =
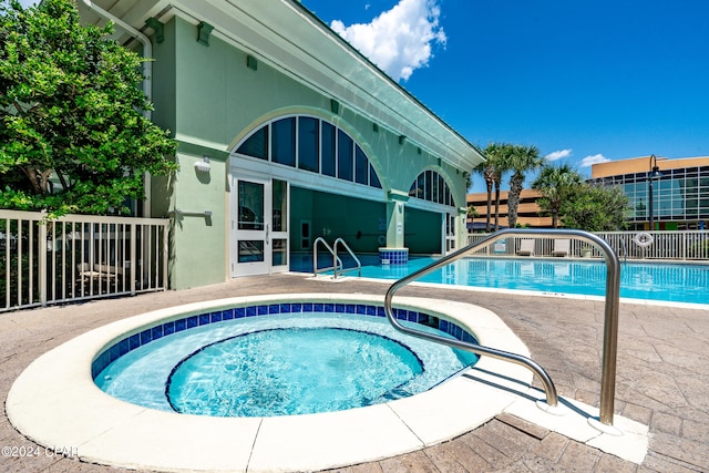
[[[0,210],[0,312],[167,288],[169,220]]]

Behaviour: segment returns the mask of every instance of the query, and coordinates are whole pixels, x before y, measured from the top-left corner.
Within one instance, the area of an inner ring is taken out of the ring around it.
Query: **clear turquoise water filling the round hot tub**
[[[418,394],[476,360],[398,332],[382,317],[297,312],[162,337],[122,354],[94,381],[115,398],[163,411],[291,415]]]

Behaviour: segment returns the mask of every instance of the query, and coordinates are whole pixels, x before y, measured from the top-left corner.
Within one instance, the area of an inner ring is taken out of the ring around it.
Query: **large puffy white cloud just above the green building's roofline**
[[[346,27],[333,20],[330,27],[391,78],[405,81],[428,65],[432,45],[445,47],[440,16],[435,0],[400,0],[371,23]]]

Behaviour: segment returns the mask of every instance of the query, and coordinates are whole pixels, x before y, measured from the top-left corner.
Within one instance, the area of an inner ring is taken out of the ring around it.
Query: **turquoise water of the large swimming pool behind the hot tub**
[[[387,266],[380,265],[377,256],[364,256],[360,259],[362,277],[378,279],[400,279],[435,260],[414,257],[405,266]],[[311,257],[310,260],[305,257],[295,257],[292,260],[292,270],[312,271]],[[345,261],[345,265],[347,267],[348,263]],[[603,296],[606,288],[606,265],[597,260],[463,258],[422,277],[419,281]],[[620,297],[709,304],[709,265],[621,263]]]

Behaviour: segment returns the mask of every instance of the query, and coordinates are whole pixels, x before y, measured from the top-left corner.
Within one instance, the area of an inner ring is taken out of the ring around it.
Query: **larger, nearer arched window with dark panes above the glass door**
[[[381,188],[374,167],[357,142],[315,116],[274,120],[251,133],[236,154]]]

